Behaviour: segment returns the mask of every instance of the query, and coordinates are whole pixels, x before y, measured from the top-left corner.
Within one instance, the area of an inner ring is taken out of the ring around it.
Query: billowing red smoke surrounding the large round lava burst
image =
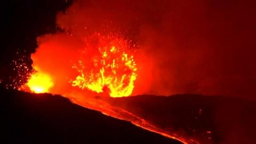
[[[67,69],[78,61],[84,37],[118,33],[139,45],[133,95],[250,97],[256,82],[253,11],[244,1],[78,0],[57,15],[63,32],[38,38],[32,59],[63,84],[76,73]],[[68,90],[65,86],[54,89]]]

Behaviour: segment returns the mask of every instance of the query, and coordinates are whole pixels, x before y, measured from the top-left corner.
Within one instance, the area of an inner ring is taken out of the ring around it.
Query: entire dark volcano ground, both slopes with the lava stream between
[[[9,143],[253,143],[256,141],[254,133],[256,102],[239,98],[195,94],[170,97],[159,95],[94,97],[94,101],[101,103],[103,108],[100,109],[99,105],[95,106],[92,103],[91,106],[86,107],[100,110],[100,113],[79,106],[79,102],[76,102],[78,105],[74,104],[60,95],[31,94],[6,89],[1,89],[1,94],[4,127],[2,132],[4,140]],[[141,124],[141,119],[146,124]],[[129,121],[138,124],[139,127]],[[140,127],[148,128],[149,131]],[[175,137],[174,139],[164,137],[166,135],[161,135],[161,132]],[[237,134],[239,137],[234,137]]]

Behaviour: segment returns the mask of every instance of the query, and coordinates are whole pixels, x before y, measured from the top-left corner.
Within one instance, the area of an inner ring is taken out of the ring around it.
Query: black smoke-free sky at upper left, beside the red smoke
[[[12,84],[18,73],[13,70],[12,61],[22,63],[22,59],[27,66],[31,65],[30,54],[37,47],[36,38],[57,31],[56,13],[64,11],[70,1],[11,0],[3,1],[1,5],[0,79],[4,84]]]

